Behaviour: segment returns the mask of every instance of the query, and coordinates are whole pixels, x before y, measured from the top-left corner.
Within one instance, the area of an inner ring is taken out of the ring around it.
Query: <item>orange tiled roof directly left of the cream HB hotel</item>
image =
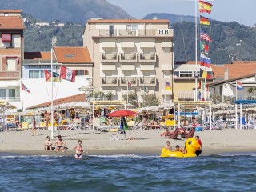
[[[54,51],[61,63],[92,63],[87,47],[55,46]]]

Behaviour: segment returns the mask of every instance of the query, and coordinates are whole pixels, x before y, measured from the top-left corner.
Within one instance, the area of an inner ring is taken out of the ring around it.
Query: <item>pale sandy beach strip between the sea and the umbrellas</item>
[[[120,140],[110,141],[108,132],[92,132],[89,130],[61,130],[62,139],[67,144],[67,150],[62,153],[45,151],[44,141],[50,136],[49,130],[37,130],[32,136],[30,130],[8,131],[0,133],[0,152],[15,154],[74,154],[74,146],[82,140],[84,150],[89,154],[155,154],[159,155],[166,145],[166,138],[160,137],[164,130],[129,130],[126,138],[135,137],[137,140],[126,140],[121,135]],[[223,153],[256,152],[256,130],[205,130],[195,132],[202,139],[202,155]],[[55,142],[58,132],[54,132],[52,142]],[[184,147],[185,140],[171,139],[170,145]]]

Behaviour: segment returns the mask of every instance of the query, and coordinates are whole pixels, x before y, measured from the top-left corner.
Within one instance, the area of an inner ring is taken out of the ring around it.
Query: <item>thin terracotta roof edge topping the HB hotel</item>
[[[167,23],[168,19],[90,19],[88,23]]]

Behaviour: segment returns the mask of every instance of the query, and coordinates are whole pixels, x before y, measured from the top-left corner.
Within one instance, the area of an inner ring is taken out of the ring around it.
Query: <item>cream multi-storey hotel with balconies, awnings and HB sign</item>
[[[95,91],[122,100],[128,91],[156,94],[161,102],[172,100],[174,64],[173,29],[166,19],[90,19],[83,34],[83,46],[94,62]]]

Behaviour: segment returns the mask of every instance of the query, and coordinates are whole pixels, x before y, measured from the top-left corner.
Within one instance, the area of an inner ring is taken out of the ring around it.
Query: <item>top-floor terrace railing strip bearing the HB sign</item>
[[[99,30],[99,36],[103,37],[118,37],[118,36],[138,36],[138,37],[156,37],[156,36],[165,36],[173,37],[173,29],[158,29],[158,30]]]

